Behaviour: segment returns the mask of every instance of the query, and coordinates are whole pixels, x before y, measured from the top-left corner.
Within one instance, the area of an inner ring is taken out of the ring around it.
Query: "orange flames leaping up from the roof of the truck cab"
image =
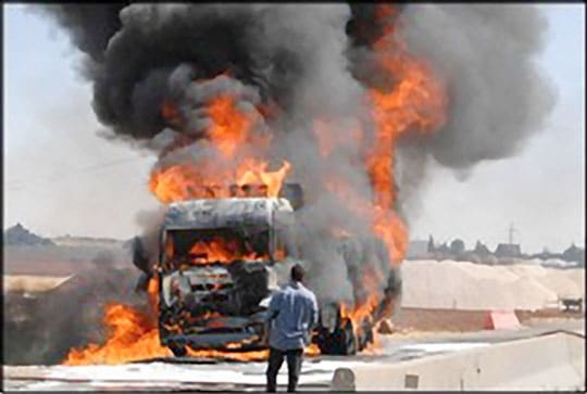
[[[159,201],[168,204],[228,198],[232,183],[259,183],[265,188],[263,196],[278,196],[291,165],[284,161],[279,169],[271,171],[268,162],[247,154],[247,147],[254,147],[255,151],[267,149],[271,135],[255,132],[259,115],[237,107],[236,100],[236,96],[223,94],[207,103],[211,126],[205,130],[205,140],[197,143],[208,149],[209,155],[153,171],[149,189]],[[164,101],[162,113],[176,116],[178,112],[170,101]]]

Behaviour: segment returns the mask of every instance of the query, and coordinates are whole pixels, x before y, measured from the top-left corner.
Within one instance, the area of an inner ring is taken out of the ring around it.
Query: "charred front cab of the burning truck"
[[[294,223],[286,199],[201,199],[171,204],[161,229],[160,341],[191,348],[263,347],[266,308]],[[278,267],[279,268],[279,267]]]

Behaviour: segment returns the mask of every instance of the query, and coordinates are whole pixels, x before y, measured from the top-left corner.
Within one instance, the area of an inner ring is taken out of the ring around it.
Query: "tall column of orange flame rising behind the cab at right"
[[[377,17],[389,20],[396,13],[390,4],[379,5]],[[394,180],[394,151],[399,138],[408,132],[434,132],[446,123],[448,99],[444,86],[430,68],[411,55],[394,26],[385,26],[385,35],[374,45],[384,71],[397,82],[388,92],[370,91],[376,137],[366,167],[375,192],[374,231],[387,244],[391,258],[401,260],[407,252],[408,231],[390,209],[397,200]]]

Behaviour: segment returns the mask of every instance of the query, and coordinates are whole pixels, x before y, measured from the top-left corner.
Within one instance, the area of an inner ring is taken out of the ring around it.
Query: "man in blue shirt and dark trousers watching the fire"
[[[277,291],[270,302],[267,392],[277,389],[277,373],[284,356],[287,358],[287,391],[296,391],[303,348],[310,345],[312,329],[317,322],[316,296],[302,284],[304,274],[299,264],[291,267],[289,283]]]

